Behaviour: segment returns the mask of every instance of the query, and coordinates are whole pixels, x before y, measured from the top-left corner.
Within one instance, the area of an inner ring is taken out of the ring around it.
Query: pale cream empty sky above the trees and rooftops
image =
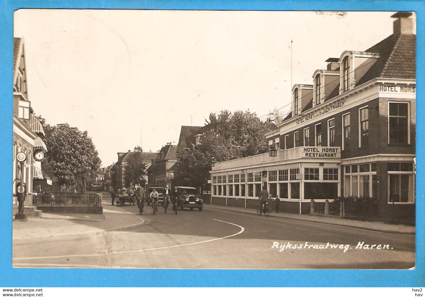
[[[392,14],[23,9],[14,36],[34,113],[87,130],[108,166],[135,146],[177,144],[210,112],[289,112],[293,84],[391,35]]]

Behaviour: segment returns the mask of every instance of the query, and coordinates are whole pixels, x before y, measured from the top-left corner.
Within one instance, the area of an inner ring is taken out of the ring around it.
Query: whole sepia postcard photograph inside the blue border
[[[15,269],[415,269],[415,11],[13,23]]]

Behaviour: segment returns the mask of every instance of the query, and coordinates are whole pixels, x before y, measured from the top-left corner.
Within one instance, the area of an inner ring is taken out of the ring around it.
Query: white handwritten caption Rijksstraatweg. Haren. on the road
[[[276,249],[279,252],[283,252],[285,249],[336,249],[336,250],[342,250],[343,252],[348,251],[348,249],[351,249],[351,246],[349,244],[309,244],[309,242],[306,241],[306,243],[303,244],[291,244],[288,242],[278,242],[273,241],[272,249]],[[390,247],[389,244],[365,244],[364,241],[359,241],[355,249],[393,249]]]

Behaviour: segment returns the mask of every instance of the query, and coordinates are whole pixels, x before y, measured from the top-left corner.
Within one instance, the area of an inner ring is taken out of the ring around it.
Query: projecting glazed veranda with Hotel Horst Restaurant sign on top
[[[212,204],[255,208],[265,186],[281,209],[309,213],[310,201],[340,196],[339,147],[297,147],[216,163],[211,171]]]

